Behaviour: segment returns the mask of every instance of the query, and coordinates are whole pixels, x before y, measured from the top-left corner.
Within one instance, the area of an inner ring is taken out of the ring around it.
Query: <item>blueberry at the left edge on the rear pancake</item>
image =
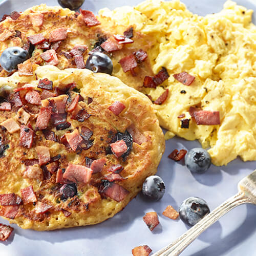
[[[7,72],[17,69],[19,63],[29,58],[28,52],[20,47],[9,47],[0,56],[0,64]]]

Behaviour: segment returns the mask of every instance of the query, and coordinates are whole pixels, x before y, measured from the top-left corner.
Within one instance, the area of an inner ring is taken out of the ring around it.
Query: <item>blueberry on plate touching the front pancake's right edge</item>
[[[158,201],[163,197],[164,191],[165,185],[159,176],[153,175],[145,179],[142,187],[142,193],[146,197]]]

